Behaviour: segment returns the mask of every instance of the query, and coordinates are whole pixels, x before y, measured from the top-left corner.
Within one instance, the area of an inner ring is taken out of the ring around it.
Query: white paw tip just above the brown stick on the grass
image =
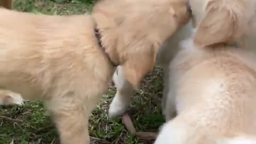
[[[118,97],[115,97],[109,106],[108,114],[110,117],[121,116],[125,113],[128,107],[129,105],[123,103]]]

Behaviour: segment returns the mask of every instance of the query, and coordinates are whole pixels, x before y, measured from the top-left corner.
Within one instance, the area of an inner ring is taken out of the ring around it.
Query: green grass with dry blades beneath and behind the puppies
[[[93,3],[89,0],[15,0],[14,9],[44,14],[83,14],[90,13]],[[155,68],[134,92],[129,114],[137,131],[155,132],[163,124],[160,110],[162,89],[162,70]],[[130,135],[120,117],[108,117],[107,110],[114,94],[115,89],[110,85],[108,94],[103,95],[91,115],[89,131],[92,143],[152,143],[139,141]],[[21,144],[59,143],[57,130],[42,102],[0,107],[0,143],[9,144],[12,140]]]

